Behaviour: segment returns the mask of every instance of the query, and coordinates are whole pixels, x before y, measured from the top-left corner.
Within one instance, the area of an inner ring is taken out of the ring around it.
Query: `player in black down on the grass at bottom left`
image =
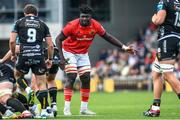
[[[10,106],[14,110],[21,112],[21,115],[17,118],[32,118],[31,112],[28,111],[18,99],[12,97],[14,87],[13,83],[15,83],[13,66],[14,63],[11,61],[0,63],[0,103]],[[5,109],[5,107],[3,107],[2,105],[1,107],[1,112],[6,113],[7,109]]]

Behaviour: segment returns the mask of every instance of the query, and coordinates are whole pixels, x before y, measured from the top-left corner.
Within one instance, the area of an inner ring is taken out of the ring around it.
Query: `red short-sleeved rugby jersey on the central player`
[[[105,29],[94,19],[91,19],[89,26],[83,27],[80,25],[79,19],[69,22],[62,30],[67,39],[63,41],[63,49],[75,53],[85,54],[92,44],[96,34],[100,36],[105,34]]]

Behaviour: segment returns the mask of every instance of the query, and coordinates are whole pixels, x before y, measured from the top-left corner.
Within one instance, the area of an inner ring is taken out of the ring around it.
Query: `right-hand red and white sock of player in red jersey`
[[[81,110],[87,109],[88,106],[88,100],[90,95],[90,89],[81,89]]]

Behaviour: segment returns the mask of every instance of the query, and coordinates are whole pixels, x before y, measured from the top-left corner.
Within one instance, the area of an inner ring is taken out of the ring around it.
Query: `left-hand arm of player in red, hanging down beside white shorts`
[[[56,37],[56,46],[59,50],[59,56],[61,58],[60,60],[60,68],[64,70],[66,60],[64,58],[63,52],[62,52],[62,42],[66,39],[67,37],[64,35],[63,32],[61,32],[57,37]]]

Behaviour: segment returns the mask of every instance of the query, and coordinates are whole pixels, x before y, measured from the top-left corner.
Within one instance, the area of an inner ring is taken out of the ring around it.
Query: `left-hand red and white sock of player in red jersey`
[[[70,108],[72,94],[73,94],[72,89],[64,88],[64,100],[65,100],[64,107],[65,108]]]

